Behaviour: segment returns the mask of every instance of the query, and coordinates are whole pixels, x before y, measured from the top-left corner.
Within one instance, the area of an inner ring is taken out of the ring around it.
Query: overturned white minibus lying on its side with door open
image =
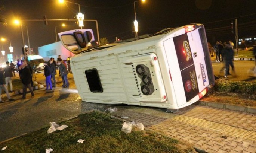
[[[214,85],[204,26],[164,29],[144,39],[88,49],[91,29],[59,33],[75,55],[71,70],[83,101],[178,109]]]

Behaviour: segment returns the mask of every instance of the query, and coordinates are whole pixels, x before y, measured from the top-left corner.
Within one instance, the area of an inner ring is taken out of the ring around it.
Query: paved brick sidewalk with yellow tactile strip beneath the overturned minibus
[[[256,153],[256,117],[239,111],[191,105],[175,113],[163,109],[117,106],[116,117],[142,122],[146,130],[192,144],[209,153]]]

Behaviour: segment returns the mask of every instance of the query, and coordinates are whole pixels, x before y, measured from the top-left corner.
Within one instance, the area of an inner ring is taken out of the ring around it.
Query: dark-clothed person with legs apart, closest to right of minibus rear
[[[226,43],[226,45],[224,46],[224,60],[225,60],[225,78],[228,77],[228,75],[231,75],[229,73],[229,65],[231,66],[232,70],[235,71],[235,67],[234,67],[234,63],[232,61],[232,58],[234,56],[234,51],[232,50],[232,44],[230,44],[229,42]]]

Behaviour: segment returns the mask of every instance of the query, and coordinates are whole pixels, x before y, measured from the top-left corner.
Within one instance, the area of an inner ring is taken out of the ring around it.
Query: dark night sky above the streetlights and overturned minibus
[[[68,0],[79,3],[85,19],[98,21],[100,38],[106,37],[114,42],[115,37],[128,39],[134,37],[133,21],[136,0]],[[0,25],[0,37],[11,41],[14,53],[22,50],[21,29],[13,25],[13,19],[74,19],[78,5],[60,4],[58,0],[1,0],[5,10],[1,12],[7,19],[7,25]],[[256,36],[256,0],[146,0],[136,2],[136,19],[139,22],[138,35],[152,34],[164,28],[183,26],[189,23],[203,23],[207,39],[213,45],[215,41],[235,41],[231,33],[231,22],[237,18],[238,38]],[[66,27],[61,27],[65,23]],[[28,27],[30,47],[37,53],[37,48],[55,42],[57,32],[80,29],[74,21],[23,21]],[[27,30],[23,27],[25,44]],[[93,29],[95,22],[84,22],[84,28]],[[58,39],[59,40],[59,39]],[[2,42],[1,42],[2,43]],[[9,52],[9,42],[4,42],[4,50]]]

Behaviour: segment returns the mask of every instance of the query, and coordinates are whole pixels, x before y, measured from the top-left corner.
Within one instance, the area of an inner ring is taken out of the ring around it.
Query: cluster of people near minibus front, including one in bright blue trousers
[[[48,63],[44,63],[44,76],[46,77],[46,90],[52,90],[53,87],[56,87],[56,80],[55,80],[55,75],[56,75],[56,66],[59,66],[59,75],[62,78],[62,87],[68,88],[69,87],[69,82],[68,82],[68,68],[67,65],[64,63],[64,61],[61,59],[61,55],[59,55],[57,59],[57,63],[54,60],[54,58],[50,58]],[[52,84],[53,80],[53,84]]]

